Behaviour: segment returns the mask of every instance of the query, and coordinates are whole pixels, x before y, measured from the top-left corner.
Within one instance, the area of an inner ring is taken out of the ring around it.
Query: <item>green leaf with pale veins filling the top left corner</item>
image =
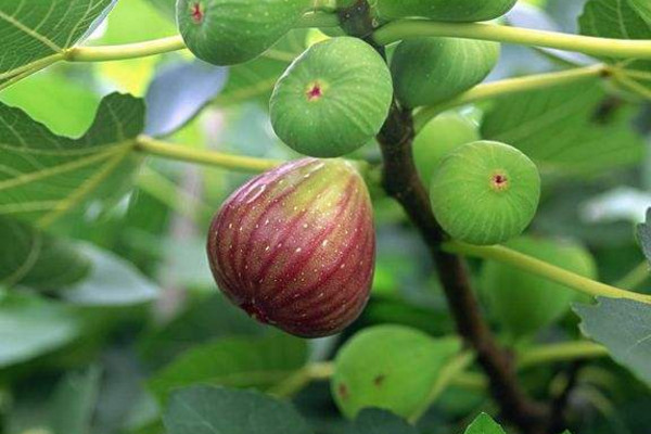
[[[114,0],[0,0],[0,89],[74,47]]]

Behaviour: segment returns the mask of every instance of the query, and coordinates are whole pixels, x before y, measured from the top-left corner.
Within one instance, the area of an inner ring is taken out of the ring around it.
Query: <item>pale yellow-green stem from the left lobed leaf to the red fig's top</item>
[[[215,151],[197,150],[190,146],[183,146],[180,144],[152,139],[151,137],[146,136],[140,136],[138,138],[136,149],[138,151],[165,158],[255,174],[267,171],[283,163],[282,161],[278,159],[254,158],[225,154]]]

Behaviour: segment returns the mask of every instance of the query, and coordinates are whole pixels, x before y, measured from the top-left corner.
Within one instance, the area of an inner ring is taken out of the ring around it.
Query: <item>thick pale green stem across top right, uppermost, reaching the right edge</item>
[[[375,42],[386,46],[403,39],[423,36],[511,42],[617,59],[651,59],[651,40],[596,38],[485,23],[464,24],[438,23],[425,20],[400,20],[375,30],[373,38]]]

